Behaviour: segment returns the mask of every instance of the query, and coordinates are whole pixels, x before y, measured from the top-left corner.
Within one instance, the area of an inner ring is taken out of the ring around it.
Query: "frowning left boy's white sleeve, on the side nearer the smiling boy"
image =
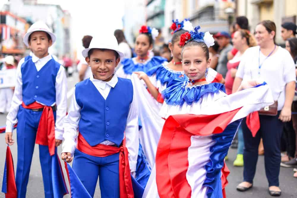
[[[60,69],[56,76],[56,125],[55,125],[55,138],[63,140],[63,118],[67,112],[67,77],[65,68],[60,65]]]

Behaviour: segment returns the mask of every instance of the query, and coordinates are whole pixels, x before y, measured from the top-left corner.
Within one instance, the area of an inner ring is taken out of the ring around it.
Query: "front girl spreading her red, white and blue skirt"
[[[159,117],[146,116],[143,122],[159,124],[154,129],[161,133],[144,198],[225,197],[229,170],[224,158],[241,118],[274,103],[266,83],[244,82],[231,95],[223,84],[209,83],[208,48],[214,39],[199,29],[182,34],[180,40],[187,79],[169,81]],[[139,82],[132,76],[134,88],[141,88]]]

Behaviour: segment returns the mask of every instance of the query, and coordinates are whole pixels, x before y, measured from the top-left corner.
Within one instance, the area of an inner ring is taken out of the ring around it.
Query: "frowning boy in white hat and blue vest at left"
[[[55,35],[41,21],[34,23],[23,39],[33,54],[17,68],[17,82],[7,115],[5,134],[6,143],[12,145],[12,129],[18,122],[15,177],[18,197],[26,197],[35,143],[39,144],[45,197],[62,197],[62,194],[67,193],[66,187],[59,191],[59,186],[53,184],[54,177],[63,178],[62,172],[52,169],[52,165],[56,158],[56,147],[63,140],[63,118],[67,109],[64,67],[48,54],[48,48],[55,40]]]

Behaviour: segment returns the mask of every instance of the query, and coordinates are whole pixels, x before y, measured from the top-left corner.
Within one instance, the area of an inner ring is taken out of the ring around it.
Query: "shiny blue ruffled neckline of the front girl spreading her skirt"
[[[167,89],[162,92],[163,98],[168,105],[183,106],[198,102],[206,93],[226,92],[225,86],[220,83],[210,83],[186,87],[187,81],[174,79],[169,82]]]

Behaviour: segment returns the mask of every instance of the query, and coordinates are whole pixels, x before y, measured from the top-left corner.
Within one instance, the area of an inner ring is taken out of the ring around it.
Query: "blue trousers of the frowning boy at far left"
[[[56,120],[56,112],[54,111]],[[34,151],[35,139],[39,120],[42,111],[32,111],[24,109],[20,106],[18,111],[17,126],[17,144],[18,144],[18,162],[15,175],[15,182],[18,191],[18,198],[26,197],[27,185],[29,181],[29,173],[31,161]],[[57,152],[57,150],[56,150]],[[51,176],[51,156],[48,146],[39,145],[39,157],[42,170],[42,179],[45,198],[53,197],[53,185]]]

